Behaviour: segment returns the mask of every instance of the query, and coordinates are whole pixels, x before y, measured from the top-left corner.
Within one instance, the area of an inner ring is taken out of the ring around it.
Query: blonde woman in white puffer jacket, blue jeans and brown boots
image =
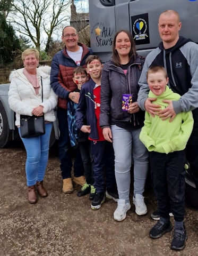
[[[51,128],[56,119],[54,108],[57,105],[57,96],[50,86],[50,67],[37,68],[39,64],[38,50],[25,50],[22,53],[22,60],[24,68],[12,71],[8,92],[10,108],[16,112],[15,124],[18,126],[21,135],[20,115],[44,115],[46,123],[44,135],[21,138],[27,151],[25,173],[28,185],[28,201],[34,204],[37,202],[36,190],[41,197],[47,196],[43,180],[48,162]]]

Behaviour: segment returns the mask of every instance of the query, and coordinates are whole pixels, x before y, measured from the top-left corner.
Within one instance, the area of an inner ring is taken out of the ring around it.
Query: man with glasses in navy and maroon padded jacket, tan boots
[[[79,92],[75,92],[77,85],[73,82],[73,69],[76,66],[85,67],[85,60],[92,53],[92,50],[79,43],[79,35],[72,26],[63,29],[62,41],[65,46],[57,52],[51,62],[50,82],[54,92],[58,95],[57,117],[59,125],[59,159],[61,162],[61,172],[63,178],[63,192],[68,194],[73,192],[71,179],[72,155],[71,144],[68,133],[67,122],[67,100],[75,103],[79,102]],[[83,165],[80,150],[76,149],[74,162],[74,183],[83,186],[85,178],[83,175]]]

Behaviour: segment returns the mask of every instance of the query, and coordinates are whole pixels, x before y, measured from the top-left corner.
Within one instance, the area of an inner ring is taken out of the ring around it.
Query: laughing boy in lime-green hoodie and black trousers
[[[168,100],[178,100],[180,95],[168,87],[165,68],[151,66],[147,73],[150,98],[161,109],[168,106]],[[161,110],[160,109],[160,110]],[[169,116],[171,118],[171,116]],[[183,250],[187,239],[183,223],[185,212],[185,147],[193,129],[192,112],[181,112],[172,122],[159,115],[145,113],[140,140],[149,150],[153,189],[158,200],[160,220],[150,230],[151,238],[159,238],[171,231],[169,212],[175,219],[174,238],[171,249]]]

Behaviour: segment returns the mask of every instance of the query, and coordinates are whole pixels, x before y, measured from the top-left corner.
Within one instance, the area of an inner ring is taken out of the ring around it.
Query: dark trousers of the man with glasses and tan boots
[[[71,178],[72,171],[72,154],[71,143],[68,132],[67,110],[57,108],[59,136],[59,160],[61,161],[61,172],[63,179]],[[80,177],[84,175],[82,158],[79,147],[75,150],[74,176]]]

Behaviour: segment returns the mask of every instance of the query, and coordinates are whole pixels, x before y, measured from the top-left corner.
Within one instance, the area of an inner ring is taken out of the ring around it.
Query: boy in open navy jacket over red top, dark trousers
[[[98,210],[105,202],[105,190],[106,197],[114,199],[116,202],[118,193],[114,169],[114,149],[112,143],[105,140],[99,125],[102,63],[97,55],[90,55],[86,59],[86,65],[91,79],[81,88],[79,105],[76,110],[76,124],[82,132],[89,133],[91,150],[94,155],[93,186],[96,189],[91,209]],[[86,116],[87,125],[83,122],[84,116]]]

